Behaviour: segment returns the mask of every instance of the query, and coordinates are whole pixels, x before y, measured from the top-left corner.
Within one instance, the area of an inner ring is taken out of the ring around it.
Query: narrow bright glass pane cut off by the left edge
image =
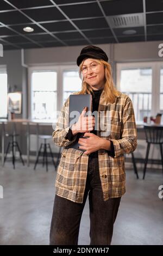
[[[8,112],[8,83],[7,73],[0,72],[0,118],[7,118]]]

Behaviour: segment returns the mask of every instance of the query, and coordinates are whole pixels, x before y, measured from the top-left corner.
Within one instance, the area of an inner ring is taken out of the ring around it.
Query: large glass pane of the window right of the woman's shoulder
[[[151,116],[152,69],[122,69],[121,92],[126,93],[133,102],[136,121]]]

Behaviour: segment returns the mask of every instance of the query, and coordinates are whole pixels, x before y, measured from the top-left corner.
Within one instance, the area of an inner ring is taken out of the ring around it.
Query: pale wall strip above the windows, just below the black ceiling
[[[103,44],[102,47],[108,54],[111,62],[149,61],[161,60],[158,56],[161,41],[128,42],[123,44]],[[51,48],[36,48],[25,50],[25,63],[36,64],[65,64],[76,63],[80,51],[84,46],[63,46]]]

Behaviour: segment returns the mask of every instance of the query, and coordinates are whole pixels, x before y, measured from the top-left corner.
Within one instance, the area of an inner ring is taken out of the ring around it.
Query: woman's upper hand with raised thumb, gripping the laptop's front
[[[87,107],[85,107],[79,116],[76,124],[72,125],[72,133],[76,135],[78,132],[92,131],[95,126],[95,117],[85,117]]]

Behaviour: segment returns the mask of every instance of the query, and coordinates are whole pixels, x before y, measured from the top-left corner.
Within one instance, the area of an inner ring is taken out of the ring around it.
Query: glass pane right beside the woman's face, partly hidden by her
[[[64,71],[63,74],[63,97],[64,102],[66,101],[67,97],[74,93],[79,92],[82,89],[82,80],[79,77],[78,71]]]

